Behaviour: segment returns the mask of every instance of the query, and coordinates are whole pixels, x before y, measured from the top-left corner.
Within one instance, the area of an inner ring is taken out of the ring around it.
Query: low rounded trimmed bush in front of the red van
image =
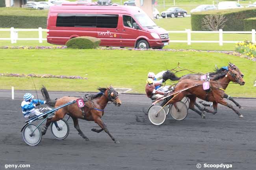
[[[66,46],[68,48],[92,49],[100,45],[100,39],[95,37],[76,37],[70,39]]]

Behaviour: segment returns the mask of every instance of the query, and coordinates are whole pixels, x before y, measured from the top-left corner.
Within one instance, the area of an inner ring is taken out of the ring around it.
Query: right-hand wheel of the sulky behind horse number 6
[[[58,139],[65,139],[69,135],[69,124],[65,119],[51,123],[51,133]]]

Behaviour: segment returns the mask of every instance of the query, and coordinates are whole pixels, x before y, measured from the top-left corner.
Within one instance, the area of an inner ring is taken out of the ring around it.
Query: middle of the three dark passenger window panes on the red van
[[[96,27],[96,15],[76,14],[75,27]]]

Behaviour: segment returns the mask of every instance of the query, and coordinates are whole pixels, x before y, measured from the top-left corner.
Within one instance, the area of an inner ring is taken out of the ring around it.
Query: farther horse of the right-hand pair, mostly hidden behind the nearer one
[[[230,65],[227,66],[227,67],[230,67],[232,66],[233,69],[237,69],[239,71],[239,68],[236,67],[236,65],[232,64],[232,63],[229,63]],[[210,75],[210,78],[213,79],[215,75],[219,74],[219,73],[224,73],[224,72],[228,72],[227,69],[224,69],[224,68],[216,68],[215,69],[215,72],[213,73],[209,73]],[[173,72],[171,72],[170,70],[167,70],[165,71],[165,73],[163,73],[163,80],[184,80],[184,79],[200,79],[200,77],[202,76],[203,74],[187,74],[187,75],[183,75],[182,77],[177,77]],[[243,74],[241,74],[242,78],[243,78]],[[224,98],[225,99],[228,99],[232,102],[234,102],[234,104],[236,104],[236,106],[239,108],[239,109],[243,109],[243,107],[237,103],[230,95],[227,95],[226,93],[224,93]],[[201,103],[202,105],[204,106],[210,106],[210,104],[205,104],[204,102],[200,101],[199,103]],[[199,108],[200,106],[195,103],[195,105]]]

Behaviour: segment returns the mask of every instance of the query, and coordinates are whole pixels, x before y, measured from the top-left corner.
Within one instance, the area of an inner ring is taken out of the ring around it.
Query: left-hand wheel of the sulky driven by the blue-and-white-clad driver
[[[39,127],[35,126],[35,124],[28,124],[25,126],[22,135],[23,140],[30,146],[36,146],[42,139],[41,130]]]

